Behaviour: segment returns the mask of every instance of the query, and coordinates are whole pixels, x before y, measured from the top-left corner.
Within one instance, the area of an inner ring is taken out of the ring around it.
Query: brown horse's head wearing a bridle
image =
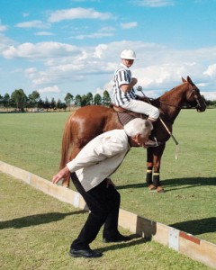
[[[186,101],[190,105],[194,106],[196,108],[197,112],[204,112],[206,109],[206,103],[200,94],[200,90],[196,85],[193,84],[192,79],[190,76],[187,76],[187,79],[185,80],[182,78],[184,83],[188,83],[189,88],[186,95]]]

